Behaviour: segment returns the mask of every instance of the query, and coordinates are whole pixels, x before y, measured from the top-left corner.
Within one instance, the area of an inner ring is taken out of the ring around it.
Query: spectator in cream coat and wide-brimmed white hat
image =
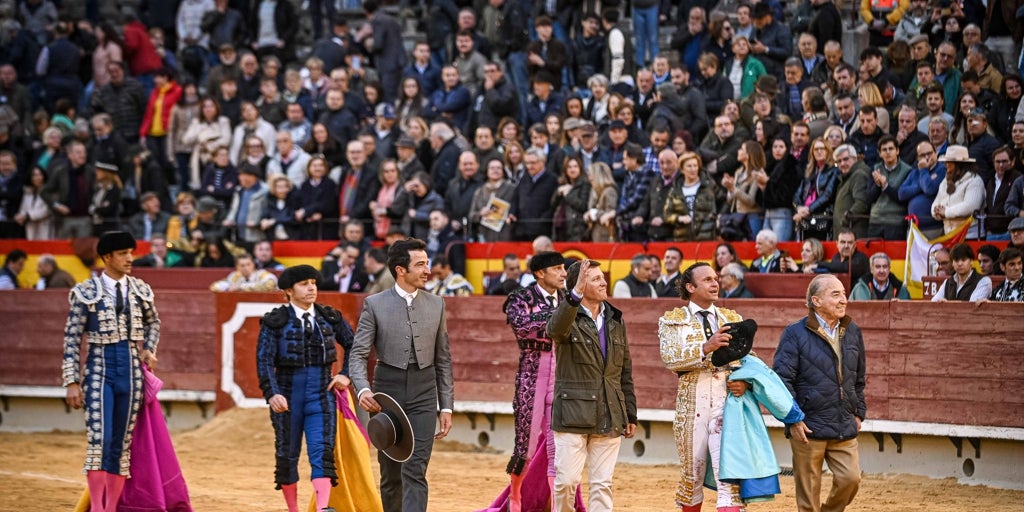
[[[949,233],[984,207],[985,182],[976,171],[975,159],[963,145],[947,147],[946,154],[939,157],[939,162],[946,163],[946,177],[939,184],[939,194],[932,202],[932,216],[941,220],[943,231]],[[967,238],[976,240],[979,237],[978,220],[974,219]]]

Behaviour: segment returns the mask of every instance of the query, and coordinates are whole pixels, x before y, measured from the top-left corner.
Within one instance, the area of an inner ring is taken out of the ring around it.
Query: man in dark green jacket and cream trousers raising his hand
[[[592,512],[610,511],[611,475],[622,437],[637,428],[633,364],[623,313],[606,302],[608,284],[600,263],[578,261],[566,285],[573,285],[548,321],[555,345],[555,489],[552,510],[574,510],[583,468],[590,474]],[[589,461],[588,461],[589,459]]]

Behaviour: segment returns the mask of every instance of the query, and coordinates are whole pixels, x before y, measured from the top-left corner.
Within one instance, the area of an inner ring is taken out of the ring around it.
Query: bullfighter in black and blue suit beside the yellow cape
[[[297,265],[286,268],[278,280],[288,305],[266,313],[260,321],[256,346],[256,371],[263,397],[270,404],[274,431],[276,467],[274,482],[285,495],[288,512],[298,512],[298,462],[302,436],[312,467],[317,512],[328,508],[331,487],[337,484],[334,440],[337,406],[334,389],[345,389],[352,328],[341,313],[316,304],[317,286],[323,281],[315,268]],[[345,349],[341,370],[335,344]]]

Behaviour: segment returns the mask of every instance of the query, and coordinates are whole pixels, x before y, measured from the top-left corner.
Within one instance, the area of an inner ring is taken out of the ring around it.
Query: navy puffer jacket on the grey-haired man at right
[[[851,439],[857,436],[854,417],[864,419],[864,340],[850,316],[840,321],[842,370],[836,352],[818,325],[808,316],[782,332],[772,370],[782,379],[807,418],[813,439]],[[786,428],[788,435],[788,426]]]

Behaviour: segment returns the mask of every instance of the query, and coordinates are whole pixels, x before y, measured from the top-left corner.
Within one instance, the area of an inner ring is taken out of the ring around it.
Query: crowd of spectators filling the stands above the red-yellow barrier
[[[0,237],[123,228],[233,266],[353,223],[446,247],[904,240],[973,216],[969,239],[1006,241],[1024,215],[1011,0],[863,0],[856,61],[830,0],[366,0],[316,9],[311,44],[290,1],[95,3],[0,2]]]

